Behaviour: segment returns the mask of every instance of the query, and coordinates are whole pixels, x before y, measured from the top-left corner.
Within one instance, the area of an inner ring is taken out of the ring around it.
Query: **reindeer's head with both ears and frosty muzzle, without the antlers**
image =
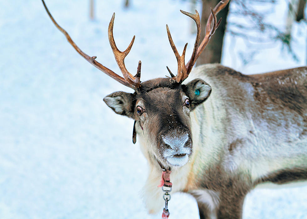
[[[183,166],[192,154],[190,111],[204,102],[211,87],[201,79],[187,85],[169,79],[141,84],[131,94],[114,92],[103,100],[117,114],[133,118],[148,153],[164,166]]]

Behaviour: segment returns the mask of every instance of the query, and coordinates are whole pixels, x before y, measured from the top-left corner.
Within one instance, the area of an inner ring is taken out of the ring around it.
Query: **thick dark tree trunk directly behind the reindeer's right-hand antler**
[[[202,40],[205,36],[206,23],[209,15],[211,14],[210,8],[213,8],[220,0],[203,0],[202,1],[202,13],[201,13],[201,35]],[[217,20],[222,18],[221,24],[216,29],[215,34],[211,36],[210,42],[207,44],[205,50],[197,59],[196,65],[205,63],[221,63],[223,38],[226,29],[226,17],[228,14],[229,4],[217,14]],[[200,42],[201,42],[200,40]]]

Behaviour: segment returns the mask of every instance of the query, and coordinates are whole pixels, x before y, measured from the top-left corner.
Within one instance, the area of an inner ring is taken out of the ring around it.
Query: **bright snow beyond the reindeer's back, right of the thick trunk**
[[[277,28],[281,30],[285,29],[285,21],[287,15],[286,9],[288,8],[287,1],[276,1],[277,3],[273,4],[273,8],[268,8],[270,4],[268,4],[266,8],[263,8],[263,5],[261,5],[263,3],[258,1],[247,2],[249,2],[250,7],[259,13],[263,13],[263,11],[272,11],[272,13],[268,13],[265,22],[273,22]],[[231,4],[230,10],[235,9],[235,6],[236,4]],[[233,16],[229,18],[229,20],[230,22],[233,22],[236,19],[240,19],[241,23],[252,22],[250,19],[244,20],[243,18],[243,16],[239,18]],[[253,31],[253,33],[255,34],[254,37],[260,37],[260,35],[263,35],[264,39],[268,39],[270,35],[269,32],[257,33]],[[306,33],[306,23],[303,23],[303,21],[300,23],[293,22],[291,35],[293,40],[291,41],[291,46],[294,50],[294,53],[298,56],[298,62],[292,58],[292,55],[287,53],[287,49],[281,50],[283,45],[280,41],[272,40],[268,42],[264,41],[263,43],[255,43],[251,39],[246,40],[240,37],[226,34],[223,44],[222,64],[232,67],[245,74],[263,73],[307,65]],[[256,50],[257,48],[258,50]],[[255,50],[256,52],[253,60],[247,65],[244,65],[242,59],[239,57],[240,53],[246,56],[248,53],[252,53],[252,50]],[[233,54],[236,54],[236,56]]]

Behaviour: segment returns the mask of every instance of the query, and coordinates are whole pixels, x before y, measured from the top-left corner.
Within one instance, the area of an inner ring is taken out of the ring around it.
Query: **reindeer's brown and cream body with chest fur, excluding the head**
[[[173,168],[173,191],[192,194],[200,217],[242,217],[246,194],[265,181],[307,179],[307,67],[242,75],[208,64],[191,72],[187,82],[205,80],[211,96],[190,112],[193,154]],[[148,159],[144,187],[149,212],[163,206],[159,164],[137,128]]]

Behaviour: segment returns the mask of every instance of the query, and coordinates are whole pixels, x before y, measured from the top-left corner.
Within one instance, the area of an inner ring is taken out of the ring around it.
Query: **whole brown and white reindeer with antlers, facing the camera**
[[[206,24],[200,42],[200,18],[181,11],[197,26],[193,54],[185,64],[185,44],[180,56],[166,25],[178,62],[177,75],[140,81],[141,61],[135,76],[124,64],[134,37],[125,51],[113,38],[115,14],[108,37],[124,78],[86,55],[49,13],[49,17],[92,65],[133,93],[114,92],[103,100],[117,114],[132,118],[136,135],[148,160],[144,186],[150,213],[163,206],[161,168],[172,170],[173,192],[192,194],[200,218],[241,218],[246,194],[264,182],[283,184],[307,179],[307,67],[265,74],[243,75],[219,64],[200,65],[200,53],[218,27],[216,14],[229,2],[221,1]]]

